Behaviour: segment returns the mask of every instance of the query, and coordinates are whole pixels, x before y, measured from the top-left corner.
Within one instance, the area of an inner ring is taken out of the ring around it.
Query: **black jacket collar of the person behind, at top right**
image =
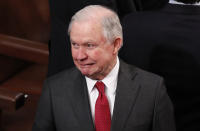
[[[166,6],[161,9],[163,12],[167,13],[180,13],[180,14],[191,14],[191,15],[199,15],[200,14],[200,6],[197,5],[178,5],[178,4],[166,4]]]

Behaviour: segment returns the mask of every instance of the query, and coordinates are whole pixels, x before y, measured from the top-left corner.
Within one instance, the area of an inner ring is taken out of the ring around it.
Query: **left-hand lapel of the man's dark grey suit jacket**
[[[71,87],[71,101],[81,130],[93,131],[94,125],[88,99],[85,78],[79,73],[76,82]]]

